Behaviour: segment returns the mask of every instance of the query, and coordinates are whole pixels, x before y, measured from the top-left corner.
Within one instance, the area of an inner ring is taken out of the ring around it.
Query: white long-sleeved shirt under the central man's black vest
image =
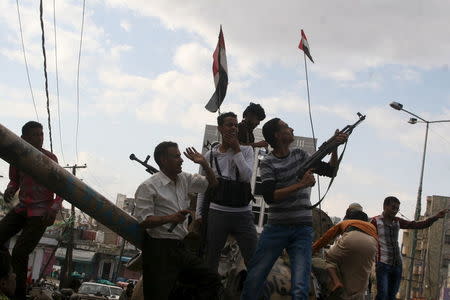
[[[205,158],[210,163],[211,153],[214,154],[214,157],[217,157],[217,162],[219,163],[220,173],[222,177],[236,180],[236,168],[239,170],[239,181],[241,182],[250,182],[252,179],[253,173],[253,160],[255,158],[255,154],[253,152],[253,148],[251,146],[240,146],[241,152],[234,153],[233,150],[228,149],[227,152],[219,151],[220,145],[217,145],[210,151],[205,154]],[[211,168],[214,171],[216,177],[219,177],[217,172],[216,163],[213,158]],[[201,217],[201,211],[203,207],[203,199],[205,195],[203,193],[199,193],[197,197],[197,209],[196,209],[196,218]],[[229,207],[223,206],[215,203],[211,203],[210,208],[220,211],[226,212],[243,212],[249,211],[252,209],[251,202],[248,206],[244,207]]]

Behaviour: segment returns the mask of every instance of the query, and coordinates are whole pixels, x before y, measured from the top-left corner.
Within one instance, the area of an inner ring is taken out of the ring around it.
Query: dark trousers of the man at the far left
[[[14,209],[0,220],[0,245],[5,244],[22,230],[12,251],[12,265],[16,273],[15,299],[17,300],[26,298],[28,255],[36,248],[46,228],[43,217],[27,217],[16,213]]]

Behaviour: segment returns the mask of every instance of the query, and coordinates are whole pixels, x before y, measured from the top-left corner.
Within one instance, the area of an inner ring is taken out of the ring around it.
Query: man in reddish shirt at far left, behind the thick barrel
[[[22,138],[58,162],[53,153],[42,148],[44,133],[40,123],[27,122],[22,127]],[[22,230],[12,251],[12,265],[17,275],[15,298],[25,299],[28,255],[39,243],[47,226],[55,221],[62,200],[59,196],[54,197],[53,191],[38,184],[31,176],[12,165],[9,167],[9,179],[4,195],[5,201],[10,202],[20,190],[19,204],[0,221],[0,247]]]

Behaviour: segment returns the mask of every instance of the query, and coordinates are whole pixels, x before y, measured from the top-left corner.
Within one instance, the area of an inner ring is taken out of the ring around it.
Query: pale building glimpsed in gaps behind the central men
[[[256,128],[253,131],[255,136],[255,141],[264,140],[262,129]],[[219,132],[217,130],[217,126],[215,125],[206,125],[205,133],[203,136],[203,146],[202,153],[205,154],[209,149],[211,149],[211,145],[214,145],[219,141]],[[294,142],[291,144],[292,148],[301,148],[312,154],[315,152],[314,150],[314,140],[312,138],[295,136]],[[253,215],[255,217],[255,224],[257,225],[258,232],[262,231],[263,225],[267,222],[267,213],[268,206],[263,200],[263,196],[261,194],[261,178],[259,173],[259,164],[260,161],[264,159],[266,155],[266,150],[264,148],[255,148],[255,160],[253,164],[253,176],[251,180],[252,192],[255,197],[255,203],[253,204]]]

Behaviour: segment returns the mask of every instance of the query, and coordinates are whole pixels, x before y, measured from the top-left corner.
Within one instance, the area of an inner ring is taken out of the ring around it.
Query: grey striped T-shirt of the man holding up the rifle
[[[278,158],[273,153],[261,161],[262,184],[275,182],[275,189],[281,189],[298,182],[297,172],[309,154],[301,149],[293,149],[289,155]],[[305,209],[311,205],[311,188],[300,189],[281,201],[271,201],[269,204],[269,224],[301,224],[312,225],[312,211]],[[267,202],[267,199],[264,198]]]

